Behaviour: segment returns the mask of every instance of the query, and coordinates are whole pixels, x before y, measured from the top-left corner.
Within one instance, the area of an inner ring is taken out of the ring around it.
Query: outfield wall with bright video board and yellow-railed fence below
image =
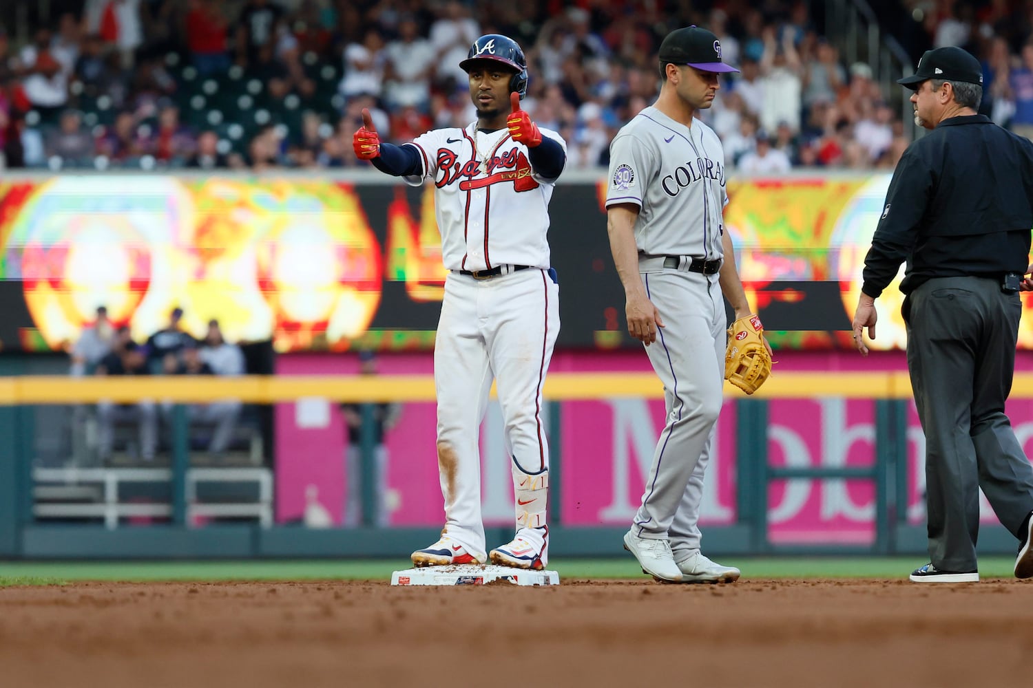
[[[887,183],[728,182],[726,226],[778,363],[758,398],[728,394],[708,551],[925,548],[895,289],[870,358],[848,332]],[[619,554],[663,418],[624,331],[600,185],[572,172],[552,206],[557,554]],[[398,556],[436,532],[433,217],[431,191],[364,173],[4,177],[0,554]],[[1009,405],[1024,446],[1031,342],[1024,322]],[[495,404],[481,454],[502,539],[513,505]],[[983,507],[980,546],[1010,550]]]

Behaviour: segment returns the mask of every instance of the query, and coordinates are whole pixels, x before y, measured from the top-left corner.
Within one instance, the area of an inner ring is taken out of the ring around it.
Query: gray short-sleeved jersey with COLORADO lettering
[[[609,145],[606,206],[639,206],[635,244],[647,256],[721,258],[728,202],[724,151],[714,130],[647,107]]]

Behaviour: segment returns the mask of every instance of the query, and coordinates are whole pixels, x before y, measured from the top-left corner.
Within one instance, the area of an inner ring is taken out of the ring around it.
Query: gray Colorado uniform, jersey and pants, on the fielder
[[[647,107],[609,149],[606,205],[639,206],[638,269],[665,327],[646,348],[663,383],[660,433],[632,533],[668,538],[676,561],[699,549],[699,502],[722,402],[725,314],[718,273],[668,268],[658,256],[724,257],[722,212],[728,201],[724,153],[714,131]]]

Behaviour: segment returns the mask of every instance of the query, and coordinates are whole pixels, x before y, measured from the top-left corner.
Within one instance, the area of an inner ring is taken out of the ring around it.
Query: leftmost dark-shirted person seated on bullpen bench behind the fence
[[[144,350],[132,340],[129,327],[118,329],[115,342],[107,356],[97,365],[98,375],[146,375],[149,374]],[[137,423],[139,429],[139,455],[145,461],[153,461],[158,443],[158,415],[154,402],[142,399],[136,403],[97,403],[97,444],[100,460],[106,462],[112,457],[115,444],[115,424]]]

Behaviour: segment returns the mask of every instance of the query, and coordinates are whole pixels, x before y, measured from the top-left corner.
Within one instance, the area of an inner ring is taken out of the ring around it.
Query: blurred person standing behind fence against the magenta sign
[[[359,359],[359,374],[371,378],[378,374],[377,357],[373,352],[362,352]],[[363,515],[363,412],[368,407],[371,412],[373,428],[373,464],[370,468],[373,474],[370,483],[377,499],[377,521],[369,525],[387,525],[387,510],[384,496],[387,494],[387,448],[384,447],[384,435],[398,423],[402,406],[395,402],[379,402],[373,404],[344,403],[341,404],[341,416],[347,432],[348,446],[345,449],[345,480],[347,481],[347,496],[344,503],[344,525],[357,526]]]

